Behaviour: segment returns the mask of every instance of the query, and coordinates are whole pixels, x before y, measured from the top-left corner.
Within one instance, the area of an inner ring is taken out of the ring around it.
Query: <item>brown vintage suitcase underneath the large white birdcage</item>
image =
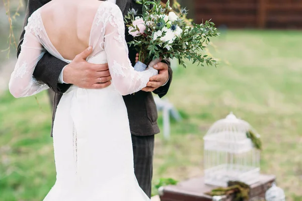
[[[251,185],[250,200],[264,198],[265,192],[275,181],[273,175],[260,175],[260,181]],[[203,177],[196,177],[159,189],[161,201],[211,201],[212,197],[204,194],[216,186],[204,184]],[[231,201],[232,195],[222,196],[223,201]]]

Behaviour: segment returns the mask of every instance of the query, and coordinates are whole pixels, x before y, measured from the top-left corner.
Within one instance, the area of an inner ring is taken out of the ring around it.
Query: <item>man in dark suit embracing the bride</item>
[[[31,14],[51,0],[28,0],[25,24]],[[109,0],[119,6],[124,15],[129,9],[142,13],[142,5],[135,0]],[[23,30],[18,46],[19,56],[25,31]],[[126,40],[131,41],[131,36],[126,30]],[[81,88],[105,88],[111,84],[111,76],[107,64],[90,64],[86,58],[91,50],[86,49],[76,56],[69,64],[46,53],[38,62],[34,76],[46,83],[54,92],[53,119],[59,100],[71,84]],[[135,63],[136,51],[129,48],[129,58],[132,65]],[[172,69],[169,60],[163,60],[154,66],[159,70],[159,75],[150,78],[147,86],[135,94],[124,96],[128,111],[128,118],[132,136],[134,171],[140,187],[150,197],[151,180],[153,171],[154,135],[159,133],[157,124],[157,108],[151,91],[163,97],[172,81]],[[117,192],[118,193],[118,192]]]

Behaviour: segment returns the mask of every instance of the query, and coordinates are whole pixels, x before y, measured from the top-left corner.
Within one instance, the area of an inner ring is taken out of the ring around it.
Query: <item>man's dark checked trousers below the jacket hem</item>
[[[151,197],[153,174],[154,135],[131,135],[134,157],[134,172],[141,189]]]

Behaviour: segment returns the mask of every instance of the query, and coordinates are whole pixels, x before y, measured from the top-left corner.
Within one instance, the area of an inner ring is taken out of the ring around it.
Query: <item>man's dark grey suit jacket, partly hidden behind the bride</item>
[[[51,0],[29,0],[26,10],[24,27],[27,25],[28,18],[31,16],[31,14],[50,1]],[[136,4],[135,0],[117,0],[116,4],[119,6],[124,15],[126,15],[129,9],[132,8],[138,10],[138,13],[142,13],[142,6]],[[25,31],[23,29],[18,46],[18,56],[21,51],[21,44],[23,43],[24,33]],[[130,41],[131,39],[132,36],[130,36],[126,30],[126,41]],[[132,65],[134,65],[135,63],[135,54],[136,51],[133,48],[129,47],[129,58]],[[169,60],[165,60],[163,62],[166,62],[169,65],[170,79],[165,86],[162,86],[154,91],[154,93],[158,94],[160,97],[166,95],[172,81],[172,69],[170,68],[170,62]],[[35,78],[46,83],[55,92],[53,102],[53,120],[55,117],[57,105],[60,101],[60,98],[62,97],[62,94],[66,92],[66,90],[70,87],[70,84],[58,83],[58,77],[65,65],[67,65],[67,63],[65,63],[64,61],[61,61],[51,54],[46,53],[38,62],[34,71]],[[132,135],[150,136],[160,132],[157,124],[157,108],[151,92],[138,91],[135,94],[123,96],[123,98],[128,111],[128,118]]]

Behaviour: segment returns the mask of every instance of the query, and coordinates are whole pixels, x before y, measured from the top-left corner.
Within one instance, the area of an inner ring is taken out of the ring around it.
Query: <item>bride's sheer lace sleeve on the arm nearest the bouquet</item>
[[[158,71],[152,67],[142,72],[134,70],[128,58],[125,25],[120,9],[114,7],[108,18],[105,24],[104,48],[112,82],[121,95],[134,93],[145,87],[149,78],[158,74]]]

